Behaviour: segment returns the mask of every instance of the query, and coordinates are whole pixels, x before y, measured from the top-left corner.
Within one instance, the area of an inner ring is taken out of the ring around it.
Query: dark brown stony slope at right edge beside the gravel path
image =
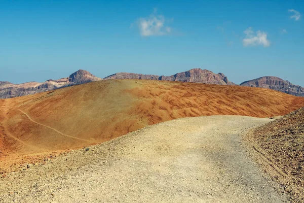
[[[253,133],[253,142],[282,171],[282,184],[304,200],[304,108],[268,123]],[[302,202],[300,201],[300,202]]]

